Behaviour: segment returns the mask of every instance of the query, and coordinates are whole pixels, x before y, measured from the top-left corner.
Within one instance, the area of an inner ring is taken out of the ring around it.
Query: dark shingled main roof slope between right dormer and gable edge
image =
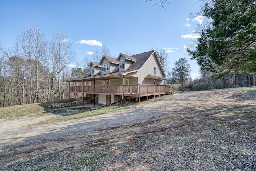
[[[132,65],[130,65],[130,67],[126,70],[126,72],[139,70],[145,64],[148,58],[152,55],[153,52],[154,50],[151,50],[141,54],[132,55],[132,57],[136,59],[136,62],[132,63]]]

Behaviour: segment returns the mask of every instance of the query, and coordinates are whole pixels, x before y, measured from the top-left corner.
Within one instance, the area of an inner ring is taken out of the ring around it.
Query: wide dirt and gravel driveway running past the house
[[[194,91],[159,99],[122,111],[39,126],[26,124],[38,122],[33,117],[48,119],[54,115],[1,119],[0,163],[9,165],[56,151],[76,151],[93,144],[128,141],[147,133],[170,132],[214,117],[221,121],[226,119],[230,107],[250,107],[256,112],[256,91]],[[13,119],[20,124],[14,124]],[[239,124],[239,120],[232,122]],[[252,129],[255,131],[255,127]]]

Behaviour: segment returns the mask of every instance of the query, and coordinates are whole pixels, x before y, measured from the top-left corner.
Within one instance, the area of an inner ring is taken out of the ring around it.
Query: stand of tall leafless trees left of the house
[[[11,50],[0,42],[0,106],[64,99],[68,64],[75,57],[61,31],[52,40],[36,25],[26,27]]]

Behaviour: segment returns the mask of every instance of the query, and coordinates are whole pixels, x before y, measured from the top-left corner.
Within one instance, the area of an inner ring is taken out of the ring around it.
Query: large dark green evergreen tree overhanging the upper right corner
[[[208,1],[209,2],[209,1]],[[211,20],[202,29],[195,50],[188,53],[202,70],[219,77],[256,71],[256,1],[212,0],[201,11]]]

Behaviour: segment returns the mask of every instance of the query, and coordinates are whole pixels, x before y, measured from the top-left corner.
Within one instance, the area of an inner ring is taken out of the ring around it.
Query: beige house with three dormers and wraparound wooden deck
[[[90,62],[91,73],[66,80],[70,93],[82,93],[95,103],[111,104],[140,97],[170,95],[174,88],[164,85],[164,69],[155,50],[117,58],[103,56],[99,63]]]

